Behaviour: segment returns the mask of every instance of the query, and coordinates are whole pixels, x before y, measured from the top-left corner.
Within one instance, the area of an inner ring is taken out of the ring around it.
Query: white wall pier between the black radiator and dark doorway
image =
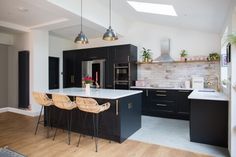
[[[30,105],[33,112],[38,112],[40,106],[32,98],[32,92],[48,90],[48,31],[32,30],[30,46]]]

